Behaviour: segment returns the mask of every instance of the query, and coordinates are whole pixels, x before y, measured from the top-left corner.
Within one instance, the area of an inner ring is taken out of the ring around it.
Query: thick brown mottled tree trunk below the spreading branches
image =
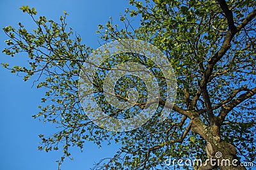
[[[221,170],[244,170],[246,169],[241,165],[235,146],[221,141],[219,136],[218,127],[205,125],[200,118],[192,120],[191,130],[196,132],[205,139],[208,159],[198,168],[200,170],[214,169],[220,167]]]

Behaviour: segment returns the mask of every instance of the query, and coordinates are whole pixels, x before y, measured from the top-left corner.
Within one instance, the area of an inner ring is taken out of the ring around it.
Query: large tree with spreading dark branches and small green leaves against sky
[[[100,160],[95,169],[168,169],[164,164],[168,157],[211,158],[216,162],[237,160],[230,166],[209,161],[205,166],[198,163],[194,169],[246,169],[236,165],[241,161],[253,162],[256,155],[255,1],[130,0],[130,4],[136,10],[127,9],[120,17],[123,29],[113,24],[113,20],[99,25],[101,39],[147,41],[166,55],[177,76],[173,111],[159,122],[157,116],[168,100],[167,80],[156,64],[152,64],[152,59],[123,53],[100,65],[92,82],[93,95],[111,117],[132,117],[145,109],[147,101],[145,83],[136,76],[127,76],[118,80],[115,96],[127,101],[127,89],[137,88],[136,106],[132,110],[109,106],[103,94],[103,82],[116,64],[138,62],[154,73],[162,87],[156,115],[132,131],[102,129],[84,113],[77,86],[79,72],[95,50],[83,45],[81,37],[67,27],[67,13],[57,23],[45,17],[36,19],[35,8],[22,6],[20,9],[31,15],[37,28],[28,32],[20,23],[17,30],[4,27],[10,39],[6,40],[8,48],[3,52],[12,57],[25,52],[29,65],[9,67],[6,63],[3,66],[12,73],[22,74],[24,81],[36,76],[37,88],[49,89],[42,98],[44,105],[39,106],[42,111],[33,117],[58,124],[61,129],[49,137],[41,134],[42,146],[38,149],[48,152],[63,148],[61,164],[65,157],[70,157],[70,146],[82,149],[86,140],[97,145],[115,140],[122,148],[112,159]],[[132,27],[131,17],[141,18],[140,27]]]

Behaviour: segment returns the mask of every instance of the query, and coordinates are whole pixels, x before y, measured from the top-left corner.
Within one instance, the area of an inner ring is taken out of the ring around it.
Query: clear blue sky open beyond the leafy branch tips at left
[[[97,41],[99,35],[98,24],[105,24],[109,17],[119,20],[119,14],[129,7],[129,1],[109,0],[45,0],[45,1],[0,1],[0,27],[7,25],[18,27],[22,22],[26,27],[31,27],[31,20],[28,15],[22,13],[19,7],[28,5],[35,7],[38,15],[44,15],[48,19],[58,20],[63,15],[63,10],[69,13],[67,22],[70,27],[81,34],[83,43],[93,48],[99,47]],[[0,49],[5,47],[4,40],[7,37],[0,31]],[[20,64],[26,62],[27,56],[11,58],[0,53],[0,62]],[[62,153],[45,153],[37,150],[40,139],[38,134],[51,134],[56,131],[54,125],[43,124],[35,120],[31,115],[38,112],[37,106],[44,92],[31,88],[33,81],[24,82],[22,78],[10,71],[0,67],[1,77],[1,118],[0,118],[0,169],[57,169],[55,160],[60,159]],[[81,170],[93,167],[93,163],[105,157],[111,157],[116,152],[117,146],[104,145],[98,149],[93,143],[86,143],[84,152],[74,148],[74,160],[66,160],[61,170]]]

